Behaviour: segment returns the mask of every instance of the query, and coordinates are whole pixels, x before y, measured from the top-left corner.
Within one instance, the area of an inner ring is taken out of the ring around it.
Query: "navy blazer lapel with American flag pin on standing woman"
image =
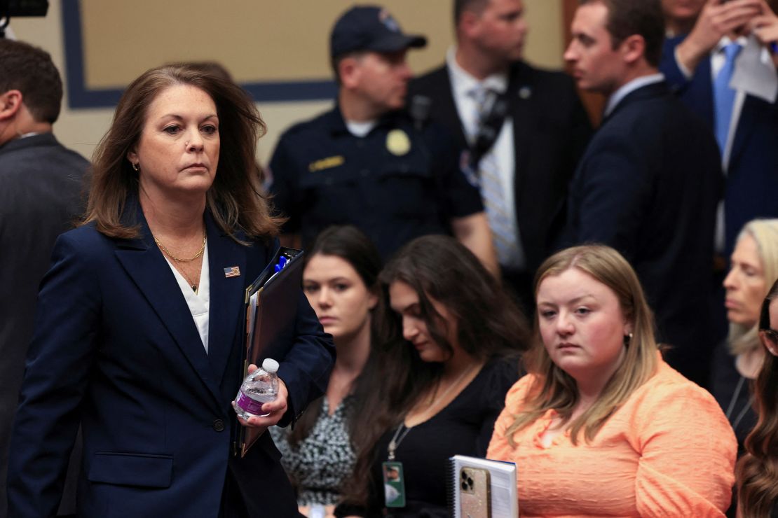
[[[251,279],[246,278],[246,247],[224,234],[210,213],[205,214],[205,227],[208,232],[211,287],[208,360],[216,375],[216,383],[220,384],[227,359],[230,357],[230,349],[242,327],[240,315],[244,308],[246,284],[251,282]],[[233,266],[240,269],[240,276],[225,276],[224,269]]]

